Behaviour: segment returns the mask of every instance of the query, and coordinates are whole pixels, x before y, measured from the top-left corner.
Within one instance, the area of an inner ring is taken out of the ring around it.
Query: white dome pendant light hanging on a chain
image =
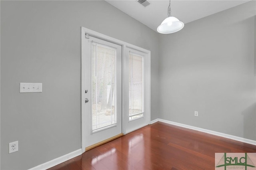
[[[171,15],[171,0],[168,6],[168,18],[166,18],[157,28],[157,32],[161,34],[171,34],[180,31],[184,27],[184,23]]]

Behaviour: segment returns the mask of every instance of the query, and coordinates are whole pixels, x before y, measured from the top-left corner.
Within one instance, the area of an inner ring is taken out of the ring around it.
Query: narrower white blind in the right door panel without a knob
[[[129,53],[129,120],[144,113],[144,58]]]

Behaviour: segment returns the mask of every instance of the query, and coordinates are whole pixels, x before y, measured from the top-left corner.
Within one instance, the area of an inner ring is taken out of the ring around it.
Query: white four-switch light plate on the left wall
[[[20,83],[20,93],[40,93],[42,88],[42,83]]]

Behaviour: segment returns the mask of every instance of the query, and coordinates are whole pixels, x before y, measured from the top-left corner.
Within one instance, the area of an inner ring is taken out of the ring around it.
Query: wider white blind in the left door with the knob
[[[116,49],[92,43],[92,132],[116,125]]]

